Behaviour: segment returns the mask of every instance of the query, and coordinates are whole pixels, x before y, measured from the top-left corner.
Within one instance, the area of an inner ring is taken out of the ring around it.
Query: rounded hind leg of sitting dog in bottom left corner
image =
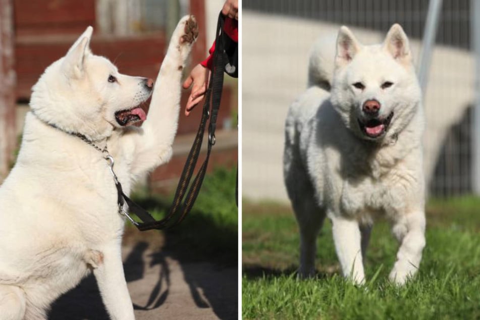
[[[21,320],[25,316],[25,294],[19,287],[0,285],[0,318]]]

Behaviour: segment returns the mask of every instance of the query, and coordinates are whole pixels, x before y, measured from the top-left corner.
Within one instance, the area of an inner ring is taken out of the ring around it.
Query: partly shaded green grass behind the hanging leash
[[[235,204],[236,168],[218,168],[207,174],[192,211],[178,226],[160,231],[164,250],[185,260],[215,260],[235,266],[238,261],[238,209]],[[170,197],[136,194],[133,199],[152,216],[162,219],[172,204]],[[130,228],[134,228],[128,224]]]

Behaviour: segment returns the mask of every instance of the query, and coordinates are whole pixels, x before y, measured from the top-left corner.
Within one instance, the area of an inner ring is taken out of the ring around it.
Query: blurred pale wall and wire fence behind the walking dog
[[[290,103],[306,88],[312,43],[336,36],[341,25],[364,44],[380,43],[394,23],[409,36],[422,82],[429,194],[480,194],[472,32],[480,17],[473,6],[478,2],[244,0],[243,197],[289,202],[282,170],[284,121]]]

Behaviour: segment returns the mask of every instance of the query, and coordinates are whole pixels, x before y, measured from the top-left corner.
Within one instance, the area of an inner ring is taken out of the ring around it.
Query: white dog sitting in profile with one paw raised
[[[115,159],[126,194],[135,178],[169,161],[198,28],[193,16],[180,20],[154,88],[93,55],[91,34],[88,27],[33,87],[20,153],[0,187],[2,320],[46,318],[52,301],[90,272],[110,316],[134,319],[121,257],[125,217],[99,150]],[[139,105],[152,91],[148,120],[129,126],[145,120]]]

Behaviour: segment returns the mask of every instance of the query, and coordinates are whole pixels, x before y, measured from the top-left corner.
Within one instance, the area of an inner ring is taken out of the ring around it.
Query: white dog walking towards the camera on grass
[[[325,66],[329,60],[313,50],[310,87],[291,105],[285,128],[299,275],[314,274],[316,236],[328,216],[343,275],[362,283],[372,214],[384,214],[400,242],[390,279],[403,284],[425,246],[423,110],[408,39],[395,24],[383,44],[364,46],[341,27],[334,66]]]

